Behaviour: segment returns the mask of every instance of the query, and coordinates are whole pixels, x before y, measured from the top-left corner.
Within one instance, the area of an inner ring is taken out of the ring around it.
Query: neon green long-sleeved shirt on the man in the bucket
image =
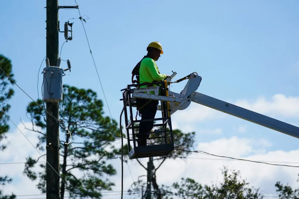
[[[154,80],[162,81],[166,75],[159,74],[159,69],[156,62],[152,58],[144,58],[141,61],[139,68],[139,81],[142,83],[152,83]],[[156,86],[156,85],[154,85]],[[146,87],[146,86],[141,86]]]

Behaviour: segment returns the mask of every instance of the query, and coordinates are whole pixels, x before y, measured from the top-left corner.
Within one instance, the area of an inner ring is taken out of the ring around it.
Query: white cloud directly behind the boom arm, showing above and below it
[[[283,94],[275,94],[271,100],[265,97],[259,97],[257,100],[250,102],[247,100],[237,100],[237,106],[245,109],[267,115],[276,119],[279,118],[298,118],[299,117],[299,97],[285,96]],[[219,121],[224,118],[230,118],[227,114],[205,107],[200,104],[191,103],[185,110],[179,110],[172,115],[173,128],[184,129],[184,131],[200,131],[199,124],[206,121]],[[290,122],[294,124],[294,122]],[[246,132],[246,126],[238,126],[234,129],[237,132]]]

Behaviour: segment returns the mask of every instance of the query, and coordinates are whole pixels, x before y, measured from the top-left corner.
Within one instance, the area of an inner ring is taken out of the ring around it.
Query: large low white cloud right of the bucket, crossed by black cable
[[[215,155],[230,156],[234,158],[244,158],[257,161],[286,161],[298,162],[299,149],[284,152],[272,151],[264,153],[264,150],[271,144],[265,140],[239,139],[219,139],[207,143],[199,143],[198,150],[209,152]],[[252,155],[253,154],[253,155]],[[216,158],[191,159],[191,158]],[[160,170],[157,171],[159,184],[170,184],[179,181],[180,177],[193,178],[203,184],[215,182],[221,176],[220,169],[223,165],[229,169],[241,171],[241,176],[247,178],[252,186],[260,187],[264,193],[275,193],[274,184],[276,181],[289,182],[291,186],[297,186],[296,179],[299,168],[271,166],[247,161],[222,160],[222,158],[210,155],[192,154],[186,163],[182,160],[168,160]],[[174,177],[176,174],[177,177]]]

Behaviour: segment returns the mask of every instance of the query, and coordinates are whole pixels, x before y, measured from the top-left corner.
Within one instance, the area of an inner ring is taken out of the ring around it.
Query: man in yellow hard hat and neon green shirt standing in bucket
[[[136,75],[137,83],[153,83],[166,79],[169,75],[160,74],[156,61],[158,61],[160,55],[163,54],[162,46],[159,42],[151,42],[147,47],[147,55],[141,59],[141,61],[136,65],[132,71],[132,83],[136,82],[133,80],[133,76]],[[139,68],[139,71],[138,71]],[[136,70],[137,69],[137,70]],[[138,74],[139,73],[139,74]],[[138,77],[139,75],[139,77]],[[139,82],[138,82],[139,81]],[[157,86],[157,85],[150,85]],[[141,86],[147,87],[147,86]],[[149,100],[137,98],[137,104],[139,105],[139,114],[141,115],[141,120],[154,119],[157,109],[158,100]],[[146,146],[147,138],[149,138],[149,132],[152,130],[154,121],[141,121],[139,123],[139,135],[136,134],[138,138],[138,146]],[[141,134],[143,133],[143,134]]]

